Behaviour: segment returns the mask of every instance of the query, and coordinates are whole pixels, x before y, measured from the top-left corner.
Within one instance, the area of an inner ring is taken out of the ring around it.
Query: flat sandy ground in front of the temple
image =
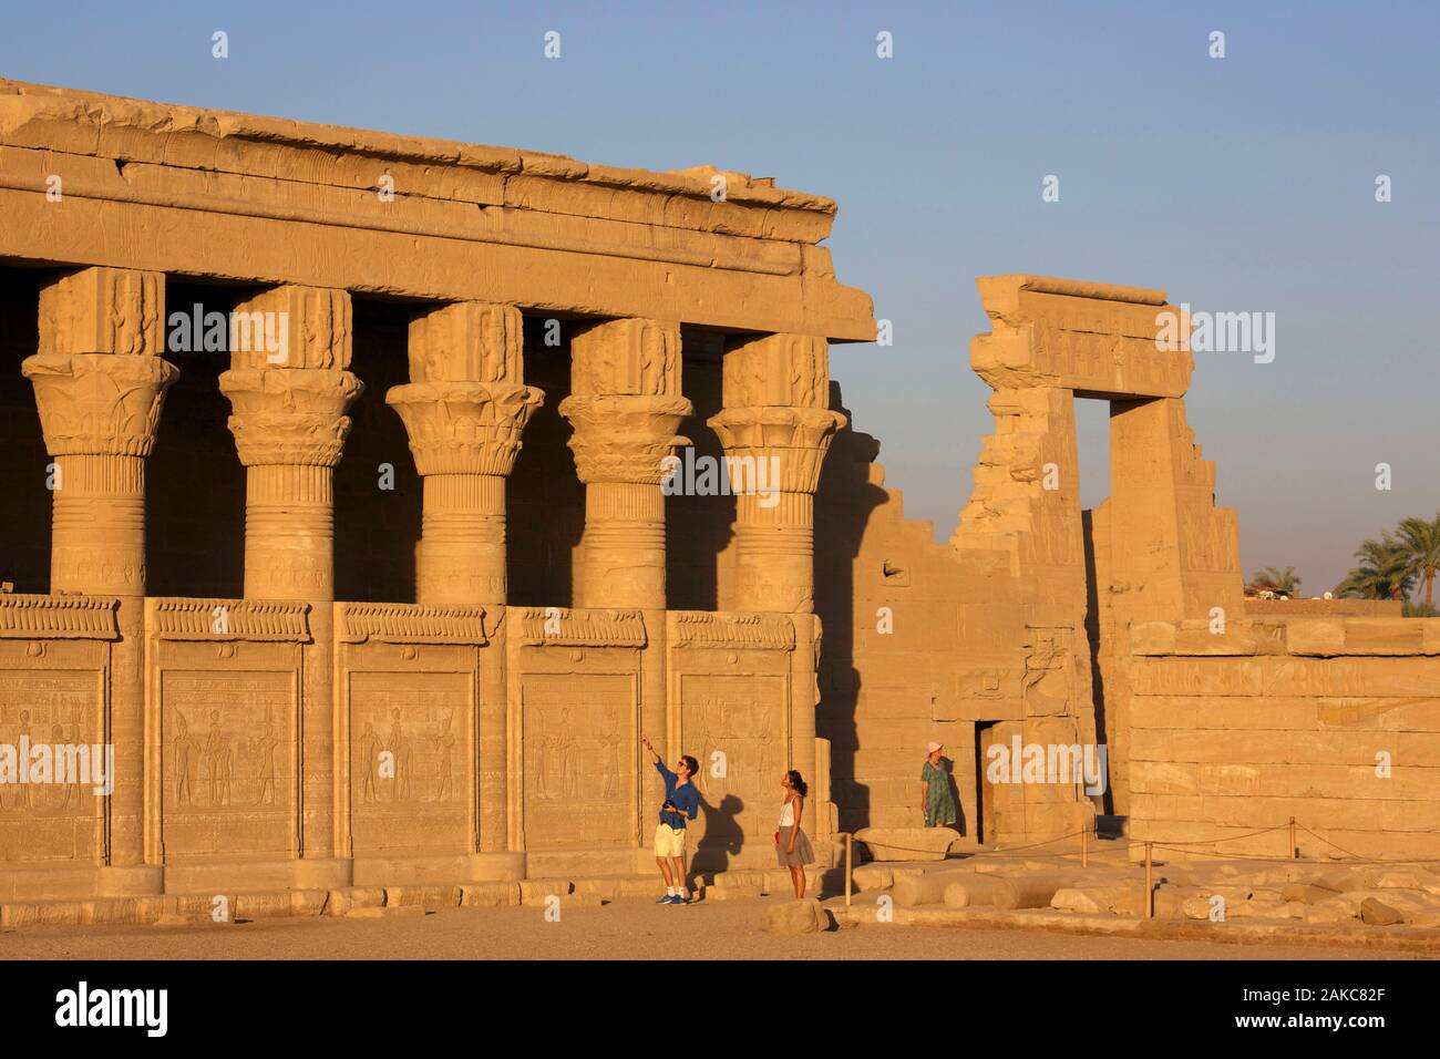
[[[760,932],[779,898],[684,908],[622,899],[603,908],[455,908],[379,919],[256,919],[203,926],[24,926],[0,931],[0,960],[1413,960],[1364,948],[1077,938],[1030,931],[874,926]]]

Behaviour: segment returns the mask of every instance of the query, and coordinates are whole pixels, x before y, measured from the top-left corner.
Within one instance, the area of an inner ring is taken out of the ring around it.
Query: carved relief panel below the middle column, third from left
[[[469,852],[469,673],[350,674],[354,852]]]

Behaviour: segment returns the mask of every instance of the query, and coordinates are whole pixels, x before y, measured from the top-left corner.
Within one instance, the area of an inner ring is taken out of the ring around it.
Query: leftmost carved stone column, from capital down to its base
[[[166,388],[161,272],[86,268],[40,291],[40,352],[20,370],[35,386],[55,509],[50,592],[118,596],[109,705],[81,738],[115,748],[102,892],[158,892],[144,860],[145,457]]]

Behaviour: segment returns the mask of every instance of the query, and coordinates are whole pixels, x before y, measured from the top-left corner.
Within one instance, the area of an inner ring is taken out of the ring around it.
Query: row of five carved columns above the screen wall
[[[282,356],[264,343],[230,353],[220,390],[246,468],[245,596],[334,598],[334,468],[350,403],[346,291],[284,285],[236,305],[288,320]],[[259,317],[256,317],[259,320]],[[256,330],[259,324],[256,324]],[[665,608],[664,460],[688,444],[680,327],[624,318],[572,340],[572,393],[560,403],[585,483],[577,607]],[[386,395],[423,478],[416,599],[505,602],[505,478],[543,393],[523,379],[523,318],[511,305],[459,303],[418,316],[410,382]],[[52,591],[143,596],[144,461],[166,388],[164,275],[86,268],[40,297],[35,385],[56,463]],[[775,496],[737,499],[736,609],[814,609],[814,494],[844,416],[828,405],[824,339],[737,337],[724,357],[724,409],[710,419],[727,457],[773,465]]]

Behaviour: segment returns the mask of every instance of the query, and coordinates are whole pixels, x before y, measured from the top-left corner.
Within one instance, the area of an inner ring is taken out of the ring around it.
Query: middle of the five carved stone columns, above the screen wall
[[[544,395],[526,386],[523,318],[461,303],[410,323],[410,382],[384,401],[425,480],[416,601],[505,602],[505,478]]]

